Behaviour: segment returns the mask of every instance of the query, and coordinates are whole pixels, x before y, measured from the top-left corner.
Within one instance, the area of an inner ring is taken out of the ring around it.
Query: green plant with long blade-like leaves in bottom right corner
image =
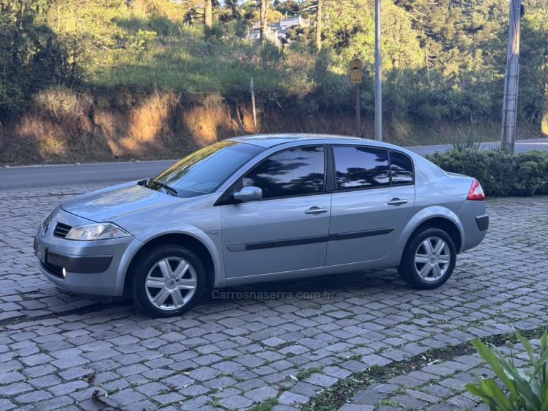
[[[530,364],[518,369],[513,360],[498,349],[490,349],[479,340],[471,340],[479,356],[486,361],[504,385],[502,390],[493,378],[477,377],[478,384],[466,384],[466,389],[481,398],[490,411],[548,411],[548,347],[547,332],[540,338],[540,355],[534,356],[533,347],[519,332],[521,344],[527,351]]]

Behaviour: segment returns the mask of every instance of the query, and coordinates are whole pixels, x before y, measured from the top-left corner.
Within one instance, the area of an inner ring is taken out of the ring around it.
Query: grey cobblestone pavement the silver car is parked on
[[[150,319],[38,274],[36,228],[71,194],[0,194],[0,410],[290,411],[372,366],[393,374],[332,409],[486,410],[463,384],[490,371],[458,347],[547,324],[548,197],[488,201],[486,240],[437,290],[386,269],[221,290],[258,299],[214,292]],[[434,347],[444,356],[430,358]]]

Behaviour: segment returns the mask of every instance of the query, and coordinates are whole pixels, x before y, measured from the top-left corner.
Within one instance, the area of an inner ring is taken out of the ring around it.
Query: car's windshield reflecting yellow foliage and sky
[[[148,187],[153,190],[167,188],[184,198],[209,194],[262,151],[264,149],[253,145],[221,141],[187,155],[150,179]]]

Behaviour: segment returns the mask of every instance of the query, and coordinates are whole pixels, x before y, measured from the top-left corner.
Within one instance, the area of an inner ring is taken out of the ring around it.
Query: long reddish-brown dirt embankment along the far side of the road
[[[385,113],[386,114],[386,113]],[[373,138],[373,119],[362,117],[364,136]],[[0,166],[115,160],[181,158],[233,136],[258,133],[356,133],[354,110],[320,110],[258,101],[256,124],[250,103],[212,97],[111,92],[90,96],[63,90],[39,94],[21,116],[0,122]],[[383,140],[398,145],[432,145],[499,139],[496,121],[421,123],[386,121]],[[519,138],[539,137],[523,128]]]

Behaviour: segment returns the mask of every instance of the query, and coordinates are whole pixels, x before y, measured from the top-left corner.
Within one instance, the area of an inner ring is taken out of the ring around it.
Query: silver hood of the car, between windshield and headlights
[[[63,203],[61,208],[71,214],[84,217],[84,219],[100,222],[113,221],[127,214],[176,201],[184,200],[138,184],[132,184],[131,186],[114,186],[80,195]]]

